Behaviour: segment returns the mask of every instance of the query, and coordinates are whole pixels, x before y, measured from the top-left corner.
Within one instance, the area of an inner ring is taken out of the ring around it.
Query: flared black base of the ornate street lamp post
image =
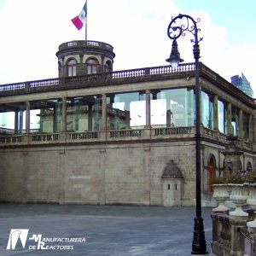
[[[194,221],[194,236],[192,241],[191,254],[207,255],[207,242],[205,238],[203,218],[195,217]]]

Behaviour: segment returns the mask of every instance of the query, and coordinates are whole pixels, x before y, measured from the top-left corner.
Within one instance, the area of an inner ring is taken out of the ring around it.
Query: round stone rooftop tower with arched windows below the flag
[[[97,41],[72,41],[61,44],[56,53],[59,78],[113,71],[113,46]]]

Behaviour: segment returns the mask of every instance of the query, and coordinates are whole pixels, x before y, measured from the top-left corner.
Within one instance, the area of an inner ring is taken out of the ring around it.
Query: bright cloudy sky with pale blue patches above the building
[[[168,65],[167,27],[178,14],[200,18],[201,59],[230,82],[244,73],[256,96],[255,0],[87,0],[88,40],[113,45],[113,70]],[[0,0],[0,84],[58,76],[60,44],[84,40],[71,19],[85,0]],[[193,36],[178,39],[194,61]]]

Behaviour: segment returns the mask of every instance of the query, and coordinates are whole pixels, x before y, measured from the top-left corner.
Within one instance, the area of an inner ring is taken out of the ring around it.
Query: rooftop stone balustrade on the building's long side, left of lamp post
[[[177,68],[171,66],[162,67],[146,67],[124,71],[116,71],[112,73],[98,73],[93,75],[85,75],[79,77],[44,79],[24,83],[2,84],[0,85],[1,95],[22,94],[36,92],[38,90],[60,90],[73,87],[88,87],[97,85],[109,85],[122,83],[125,80],[142,80],[154,79],[158,75],[170,75],[173,73],[183,73],[195,70],[194,63],[181,64]]]

